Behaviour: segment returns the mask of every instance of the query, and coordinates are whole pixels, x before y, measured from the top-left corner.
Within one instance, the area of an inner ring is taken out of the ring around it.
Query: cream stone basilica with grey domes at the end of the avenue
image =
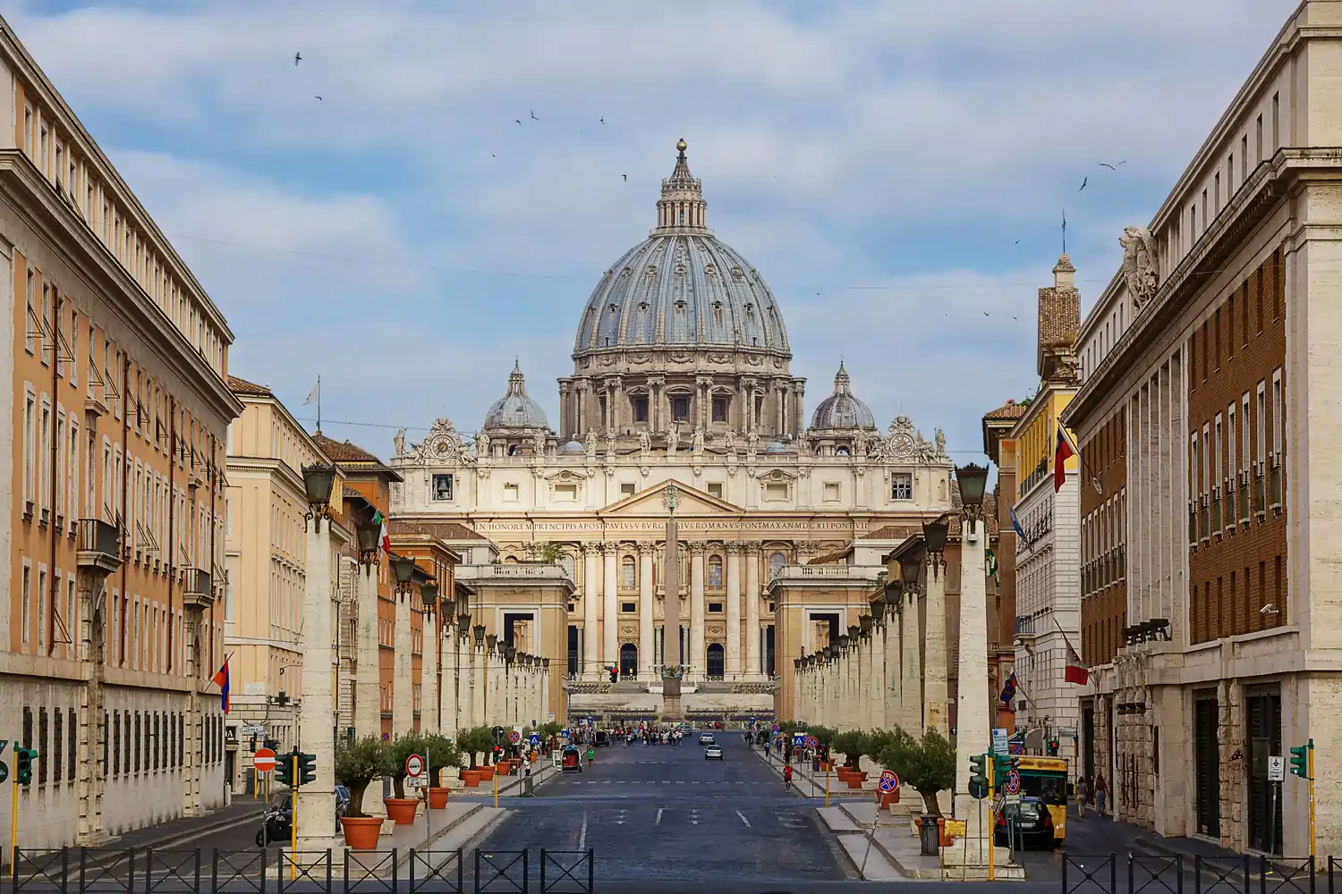
[[[393,523],[454,532],[474,622],[566,667],[561,718],[655,714],[674,665],[691,717],[790,716],[794,659],[855,625],[886,558],[951,508],[939,429],[882,433],[841,363],[808,420],[778,302],[707,228],[676,150],[656,225],[581,311],[558,428],[518,362],[478,433],[437,420],[391,461]],[[670,637],[668,560],[687,607]]]

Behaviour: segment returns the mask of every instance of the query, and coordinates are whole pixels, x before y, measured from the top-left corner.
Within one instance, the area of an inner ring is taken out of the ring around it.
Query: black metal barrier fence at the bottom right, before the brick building
[[[1342,860],[1063,854],[1063,894],[1342,894]]]

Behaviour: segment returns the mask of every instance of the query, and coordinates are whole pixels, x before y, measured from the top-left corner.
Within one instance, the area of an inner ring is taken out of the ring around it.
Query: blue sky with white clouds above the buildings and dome
[[[710,227],[778,300],[808,413],[841,357],[882,428],[907,413],[968,461],[982,413],[1035,389],[1063,210],[1086,308],[1295,5],[4,15],[228,316],[232,373],[301,418],[319,373],[333,437],[386,456],[396,428],[474,430],[514,355],[557,425],[581,310],[652,225],[684,137]]]

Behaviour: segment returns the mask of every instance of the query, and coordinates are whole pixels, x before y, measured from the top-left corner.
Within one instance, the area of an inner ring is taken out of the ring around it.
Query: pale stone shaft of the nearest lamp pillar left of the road
[[[302,704],[298,706],[298,740],[317,757],[317,780],[297,792],[298,846],[325,850],[331,846],[336,815],[336,708],[331,661],[331,535],[330,521],[307,524],[307,574],[303,582]]]

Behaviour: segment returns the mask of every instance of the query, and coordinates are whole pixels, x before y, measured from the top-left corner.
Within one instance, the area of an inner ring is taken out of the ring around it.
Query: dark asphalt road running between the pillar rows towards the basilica
[[[722,761],[705,760],[698,733],[675,747],[599,748],[592,769],[564,773],[535,797],[509,799],[513,812],[480,850],[505,862],[505,851],[529,848],[538,866],[542,847],[590,848],[603,887],[844,879],[815,803],[786,793],[739,732],[718,741]]]

